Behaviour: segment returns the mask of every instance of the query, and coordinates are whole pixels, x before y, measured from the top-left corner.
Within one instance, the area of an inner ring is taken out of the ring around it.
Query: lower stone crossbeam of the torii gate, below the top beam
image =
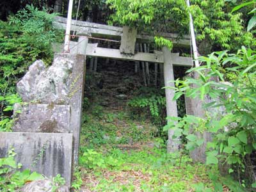
[[[70,53],[77,54],[77,42],[70,42]],[[121,54],[119,49],[109,49],[97,47],[98,44],[88,44],[86,56],[95,56],[100,58],[112,58],[116,60],[147,61],[152,63],[164,63],[163,52],[155,53],[137,52],[134,55]],[[54,52],[62,52],[63,44],[52,44]],[[172,53],[173,65],[191,67],[193,61],[191,58],[179,56],[179,53]]]

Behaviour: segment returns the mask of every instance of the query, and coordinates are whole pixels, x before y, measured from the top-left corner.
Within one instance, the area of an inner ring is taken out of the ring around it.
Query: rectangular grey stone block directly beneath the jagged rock
[[[21,111],[21,113],[17,113]],[[54,104],[15,104],[17,120],[12,130],[15,132],[72,132],[70,129],[70,106]]]

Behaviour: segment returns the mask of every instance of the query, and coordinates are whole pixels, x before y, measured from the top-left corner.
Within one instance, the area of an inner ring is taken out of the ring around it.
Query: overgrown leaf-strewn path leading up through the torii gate
[[[113,68],[94,78],[102,76],[99,89],[87,77],[93,97],[84,100],[74,191],[243,191],[216,167],[193,163],[187,154],[167,154],[163,137],[156,137],[159,127],[132,118],[127,108],[136,80]]]

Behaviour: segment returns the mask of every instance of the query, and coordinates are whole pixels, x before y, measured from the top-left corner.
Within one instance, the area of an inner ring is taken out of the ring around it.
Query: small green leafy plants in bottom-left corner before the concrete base
[[[0,158],[0,191],[15,191],[26,182],[44,179],[44,177],[36,172],[31,173],[30,170],[18,171],[22,166],[15,162],[14,150],[9,150],[8,157]]]

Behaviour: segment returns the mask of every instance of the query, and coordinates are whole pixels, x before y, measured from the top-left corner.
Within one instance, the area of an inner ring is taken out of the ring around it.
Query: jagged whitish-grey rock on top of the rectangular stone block
[[[26,75],[17,83],[22,100],[39,100],[42,103],[68,103],[68,77],[72,73],[73,61],[58,57],[51,67],[45,69],[44,62],[35,61]]]

